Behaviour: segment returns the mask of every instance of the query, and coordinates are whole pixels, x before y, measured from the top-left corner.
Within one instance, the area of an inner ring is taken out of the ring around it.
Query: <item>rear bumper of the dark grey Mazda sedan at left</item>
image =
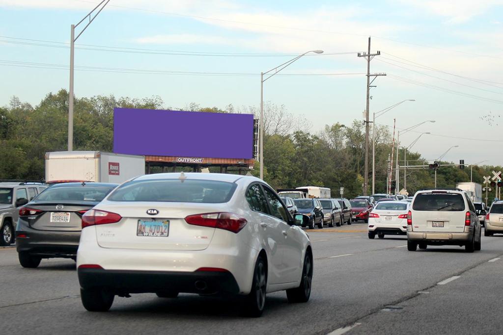
[[[18,227],[16,250],[29,252],[42,258],[75,258],[77,256],[80,231],[39,231],[29,227]],[[26,237],[20,237],[26,235]]]

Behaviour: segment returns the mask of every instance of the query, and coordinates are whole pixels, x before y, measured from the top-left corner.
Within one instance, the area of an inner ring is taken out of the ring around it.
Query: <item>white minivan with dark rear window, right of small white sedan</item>
[[[433,189],[415,193],[407,214],[407,249],[428,245],[464,246],[480,250],[481,227],[475,206],[459,189]]]

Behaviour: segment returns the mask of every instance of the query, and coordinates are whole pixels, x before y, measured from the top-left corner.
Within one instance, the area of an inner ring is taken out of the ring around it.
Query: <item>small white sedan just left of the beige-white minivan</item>
[[[380,239],[385,235],[407,235],[407,201],[381,201],[369,214],[369,239],[376,234]]]

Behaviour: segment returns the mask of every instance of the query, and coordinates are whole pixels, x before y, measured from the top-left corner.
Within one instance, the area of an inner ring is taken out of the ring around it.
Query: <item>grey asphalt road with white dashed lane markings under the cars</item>
[[[503,236],[482,236],[482,251],[473,254],[460,247],[408,252],[405,237],[369,240],[365,228],[309,231],[315,258],[311,299],[288,304],[284,292],[269,294],[259,319],[239,316],[235,300],[190,294],[116,297],[109,312],[87,312],[73,261],[42,260],[37,269],[24,269],[16,250],[3,248],[0,329],[23,334],[503,332]]]

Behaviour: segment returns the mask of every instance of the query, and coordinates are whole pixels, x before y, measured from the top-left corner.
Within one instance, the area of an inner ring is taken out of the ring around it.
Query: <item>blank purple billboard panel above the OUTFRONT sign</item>
[[[114,153],[253,158],[251,114],[114,108]]]

